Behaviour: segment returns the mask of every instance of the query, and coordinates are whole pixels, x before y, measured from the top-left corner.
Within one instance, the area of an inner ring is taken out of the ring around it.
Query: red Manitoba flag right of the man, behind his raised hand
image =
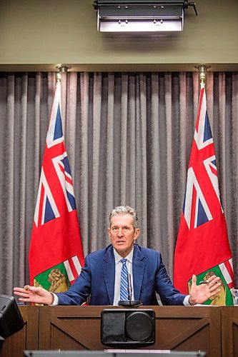
[[[217,163],[207,115],[204,86],[187,171],[187,187],[174,255],[174,286],[189,293],[192,274],[197,283],[221,278],[221,291],[205,304],[232,305],[234,276],[227,225],[219,195]]]

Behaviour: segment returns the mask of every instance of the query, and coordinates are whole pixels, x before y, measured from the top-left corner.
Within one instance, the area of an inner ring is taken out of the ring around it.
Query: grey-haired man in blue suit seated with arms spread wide
[[[79,277],[68,291],[50,293],[34,286],[14,288],[14,293],[20,296],[19,301],[81,305],[88,300],[90,305],[118,305],[122,300],[122,258],[125,258],[126,271],[132,280],[132,300],[141,301],[143,305],[157,305],[157,294],[163,305],[194,305],[219,293],[221,283],[216,276],[199,286],[196,276],[193,276],[190,295],[179,293],[167,275],[161,254],[136,243],[140,230],[134,208],[114,208],[109,223],[111,244],[86,256]]]

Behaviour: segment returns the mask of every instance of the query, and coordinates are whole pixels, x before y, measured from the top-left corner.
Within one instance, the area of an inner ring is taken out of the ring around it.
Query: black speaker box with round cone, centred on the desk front
[[[154,310],[109,308],[101,311],[101,343],[112,348],[140,348],[155,343]]]

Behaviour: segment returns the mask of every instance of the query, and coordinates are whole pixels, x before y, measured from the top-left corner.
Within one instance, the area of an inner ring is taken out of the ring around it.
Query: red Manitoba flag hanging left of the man
[[[84,253],[74,188],[61,124],[61,84],[56,84],[46,135],[29,248],[30,283],[51,292],[68,290]]]

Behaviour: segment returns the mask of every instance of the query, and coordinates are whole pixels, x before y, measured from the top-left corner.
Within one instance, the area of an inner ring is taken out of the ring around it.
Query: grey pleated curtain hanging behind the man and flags
[[[54,73],[0,74],[0,293],[29,282],[28,250]],[[237,281],[238,74],[207,74],[207,106]],[[172,277],[197,119],[197,73],[62,74],[62,120],[84,254],[111,208],[137,208],[139,243]]]

